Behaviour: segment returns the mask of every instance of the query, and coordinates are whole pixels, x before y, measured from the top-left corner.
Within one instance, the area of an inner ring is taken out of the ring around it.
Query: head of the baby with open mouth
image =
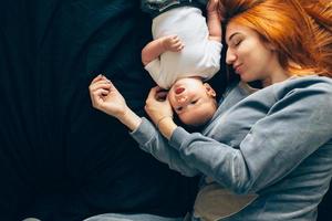
[[[178,80],[168,92],[168,101],[179,119],[191,126],[208,122],[217,109],[215,91],[198,78]]]

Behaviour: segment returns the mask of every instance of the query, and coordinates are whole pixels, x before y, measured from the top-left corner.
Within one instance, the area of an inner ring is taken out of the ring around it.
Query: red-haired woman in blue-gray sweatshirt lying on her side
[[[133,130],[144,150],[184,175],[205,175],[191,220],[317,219],[332,176],[332,6],[311,2],[221,1],[226,61],[241,83],[203,134],[174,123],[157,87],[145,106],[154,127],[107,80],[92,82],[93,106]],[[263,88],[243,84],[253,81]],[[228,203],[230,192],[243,203]]]

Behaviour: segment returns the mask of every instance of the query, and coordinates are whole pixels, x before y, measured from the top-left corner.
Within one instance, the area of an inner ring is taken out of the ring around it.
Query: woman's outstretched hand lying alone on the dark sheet
[[[96,76],[91,82],[89,91],[94,108],[116,117],[132,130],[138,127],[141,118],[132,112],[122,94],[105,76]]]

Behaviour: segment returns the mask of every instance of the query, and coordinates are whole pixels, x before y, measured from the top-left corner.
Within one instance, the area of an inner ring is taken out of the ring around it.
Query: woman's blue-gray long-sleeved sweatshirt
[[[203,173],[203,189],[208,177],[258,194],[222,220],[315,220],[332,175],[332,80],[292,77],[255,93],[243,85],[221,98],[201,134],[177,127],[168,143],[143,118],[132,136],[172,169]]]

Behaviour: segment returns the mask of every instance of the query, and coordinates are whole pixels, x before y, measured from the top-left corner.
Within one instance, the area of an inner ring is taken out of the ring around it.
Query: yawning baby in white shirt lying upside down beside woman
[[[221,23],[218,0],[207,6],[207,22],[195,0],[143,0],[153,17],[154,40],[142,50],[142,62],[162,88],[179,119],[191,126],[207,123],[217,109],[209,84],[220,67]]]

